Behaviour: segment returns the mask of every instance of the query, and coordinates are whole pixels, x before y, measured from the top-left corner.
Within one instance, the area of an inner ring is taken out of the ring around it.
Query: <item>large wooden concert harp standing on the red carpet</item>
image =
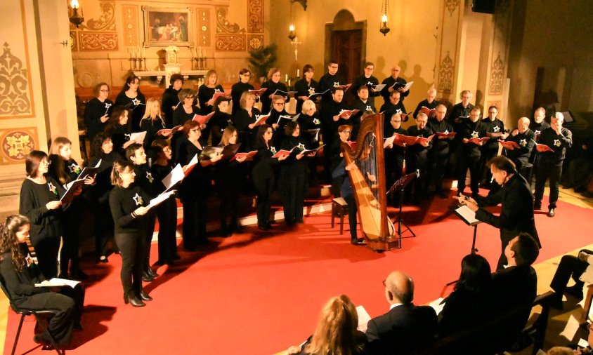
[[[360,123],[356,146],[341,142],[350,176],[360,229],[372,250],[400,248],[396,229],[387,215],[385,158],[383,149],[383,114],[371,114]]]

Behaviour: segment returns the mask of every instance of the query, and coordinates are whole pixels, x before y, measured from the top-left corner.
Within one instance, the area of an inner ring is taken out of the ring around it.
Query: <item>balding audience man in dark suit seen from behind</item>
[[[392,272],[383,281],[389,312],[367,325],[368,354],[416,354],[428,347],[436,333],[434,309],[415,306],[414,281],[403,272]]]

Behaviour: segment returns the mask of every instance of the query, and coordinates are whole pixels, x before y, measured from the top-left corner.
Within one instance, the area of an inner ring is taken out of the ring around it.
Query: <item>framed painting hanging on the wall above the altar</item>
[[[190,8],[142,6],[142,11],[144,46],[194,46]]]

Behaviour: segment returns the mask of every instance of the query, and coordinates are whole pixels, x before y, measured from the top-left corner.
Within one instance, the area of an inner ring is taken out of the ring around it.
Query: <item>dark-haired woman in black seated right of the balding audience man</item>
[[[462,259],[461,274],[455,290],[445,299],[445,307],[438,315],[438,333],[441,337],[474,328],[488,320],[491,283],[488,260],[477,254],[469,254]]]

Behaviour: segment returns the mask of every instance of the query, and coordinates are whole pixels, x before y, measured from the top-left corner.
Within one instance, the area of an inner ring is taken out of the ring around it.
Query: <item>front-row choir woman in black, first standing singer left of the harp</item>
[[[308,186],[307,160],[308,156],[315,152],[303,152],[308,145],[301,138],[299,123],[289,122],[285,128],[285,135],[286,138],[282,141],[280,149],[292,150],[292,153],[280,163],[279,189],[282,195],[284,219],[290,226],[295,222],[303,223],[303,206]]]

